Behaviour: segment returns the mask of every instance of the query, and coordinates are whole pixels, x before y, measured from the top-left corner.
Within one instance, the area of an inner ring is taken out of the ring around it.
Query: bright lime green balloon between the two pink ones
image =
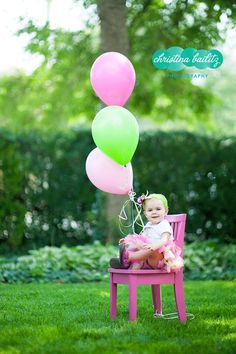
[[[108,106],[95,116],[92,136],[97,147],[107,156],[126,165],[138,145],[139,127],[137,120],[127,109]]]

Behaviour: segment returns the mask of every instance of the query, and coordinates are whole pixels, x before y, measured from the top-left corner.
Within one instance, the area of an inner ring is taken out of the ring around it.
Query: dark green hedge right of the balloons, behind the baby
[[[162,192],[169,213],[187,212],[187,240],[235,243],[235,138],[149,132],[132,161],[134,190]]]

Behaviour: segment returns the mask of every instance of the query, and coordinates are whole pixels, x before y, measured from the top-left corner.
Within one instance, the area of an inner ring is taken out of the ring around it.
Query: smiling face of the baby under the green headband
[[[167,215],[167,210],[161,200],[148,199],[145,201],[144,215],[153,224],[159,224]]]

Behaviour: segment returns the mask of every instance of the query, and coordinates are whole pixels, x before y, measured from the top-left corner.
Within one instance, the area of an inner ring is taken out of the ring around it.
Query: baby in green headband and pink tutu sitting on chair
[[[178,271],[183,266],[181,249],[173,242],[173,230],[165,219],[168,202],[162,194],[142,195],[142,204],[148,223],[140,235],[120,239],[120,258],[110,260],[113,268],[166,269]]]

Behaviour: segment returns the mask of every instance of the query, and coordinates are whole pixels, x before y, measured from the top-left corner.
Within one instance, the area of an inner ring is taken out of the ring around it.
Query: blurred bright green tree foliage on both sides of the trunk
[[[42,62],[29,76],[16,73],[0,79],[1,127],[60,130],[91,121],[100,109],[89,82],[91,65],[100,54],[97,1],[82,2],[91,15],[86,28],[78,32],[51,29],[48,22],[39,27],[22,19],[18,35],[29,35],[26,50],[40,56]],[[197,49],[215,47],[235,22],[235,4],[129,0],[126,6],[129,58],[137,74],[130,110],[138,118],[152,118],[158,124],[185,122],[190,129],[212,131],[212,107],[217,100],[211,91],[186,79],[166,78],[151,65],[151,55],[173,43],[183,48],[190,43]]]

